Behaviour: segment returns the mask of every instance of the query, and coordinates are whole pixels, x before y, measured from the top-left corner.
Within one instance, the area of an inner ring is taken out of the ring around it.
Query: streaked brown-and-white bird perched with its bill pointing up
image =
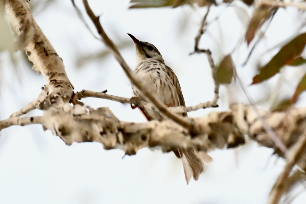
[[[178,77],[173,70],[165,64],[165,61],[158,49],[149,42],[139,41],[129,34],[136,47],[136,68],[135,76],[142,82],[142,85],[154,93],[161,102],[168,107],[185,106]],[[132,95],[144,100],[141,92],[132,84]],[[133,98],[132,97],[132,98]],[[164,118],[157,111],[138,107],[148,121]],[[181,113],[187,116],[187,112]],[[173,151],[178,158],[182,159],[185,179],[188,184],[191,177],[198,180],[200,173],[204,171],[204,162],[210,162],[211,157],[206,153],[198,153],[194,150],[180,149]]]

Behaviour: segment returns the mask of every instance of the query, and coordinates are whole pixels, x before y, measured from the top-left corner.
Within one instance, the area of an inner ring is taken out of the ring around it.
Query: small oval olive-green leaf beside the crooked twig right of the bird
[[[234,63],[232,57],[227,55],[217,67],[216,80],[220,84],[230,84],[233,78]]]

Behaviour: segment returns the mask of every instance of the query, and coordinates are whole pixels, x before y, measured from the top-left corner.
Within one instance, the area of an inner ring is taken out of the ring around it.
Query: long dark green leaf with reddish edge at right
[[[278,53],[260,68],[259,74],[253,77],[252,84],[262,82],[279,72],[286,64],[291,64],[302,53],[306,44],[306,32],[298,35],[293,40],[284,45]]]

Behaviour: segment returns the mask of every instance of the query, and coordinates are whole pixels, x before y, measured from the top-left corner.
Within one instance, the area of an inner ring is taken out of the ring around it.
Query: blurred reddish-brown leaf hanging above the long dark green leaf
[[[253,40],[255,32],[258,30],[258,28],[269,19],[275,9],[275,7],[264,4],[256,8],[248,25],[248,30],[245,33],[245,39],[247,40],[248,44]]]

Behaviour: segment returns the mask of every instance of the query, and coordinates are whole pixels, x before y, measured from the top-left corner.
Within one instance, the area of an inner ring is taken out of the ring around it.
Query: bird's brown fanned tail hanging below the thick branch
[[[182,159],[187,184],[191,177],[194,180],[198,180],[200,174],[204,171],[204,163],[209,163],[213,160],[206,152],[179,150],[178,153]]]

